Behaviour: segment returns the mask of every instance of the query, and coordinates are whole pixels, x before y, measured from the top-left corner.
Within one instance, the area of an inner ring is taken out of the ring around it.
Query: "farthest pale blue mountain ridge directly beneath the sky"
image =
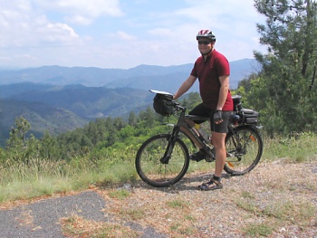
[[[256,71],[256,61],[244,59],[230,62],[231,88],[235,89],[241,79]],[[53,85],[82,84],[87,87],[133,88],[148,90],[177,90],[193,68],[192,63],[178,66],[139,65],[122,69],[101,69],[86,67],[43,66],[24,70],[0,70],[0,85],[16,82],[48,83]]]

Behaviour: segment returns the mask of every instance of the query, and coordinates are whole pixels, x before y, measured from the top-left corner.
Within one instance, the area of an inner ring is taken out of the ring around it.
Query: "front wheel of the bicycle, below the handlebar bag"
[[[188,149],[177,139],[168,164],[161,163],[168,148],[170,135],[161,134],[149,138],[138,150],[136,168],[139,177],[150,186],[171,186],[185,176],[189,166]]]

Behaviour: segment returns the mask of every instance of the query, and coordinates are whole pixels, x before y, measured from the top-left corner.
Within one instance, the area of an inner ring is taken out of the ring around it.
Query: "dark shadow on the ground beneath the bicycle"
[[[198,186],[204,182],[207,182],[210,179],[210,176],[210,174],[184,176],[180,181],[178,181],[178,183],[168,187],[149,186],[143,181],[138,181],[136,184],[134,184],[134,186],[138,186],[142,189],[158,190],[168,194],[177,194],[179,191],[198,190]],[[223,173],[221,177],[229,179],[231,176],[226,173]]]

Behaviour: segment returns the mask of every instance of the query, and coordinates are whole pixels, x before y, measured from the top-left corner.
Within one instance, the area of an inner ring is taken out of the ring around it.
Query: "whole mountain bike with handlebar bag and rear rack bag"
[[[153,102],[155,111],[163,116],[175,115],[178,119],[175,124],[168,124],[172,126],[169,133],[155,135],[140,146],[135,166],[139,177],[150,186],[171,186],[187,173],[190,162],[188,141],[190,145],[203,149],[207,162],[215,161],[212,138],[208,138],[200,126],[210,119],[186,115],[187,109],[173,100],[173,95],[168,92],[150,91],[156,93]],[[242,176],[253,170],[263,153],[261,127],[257,125],[259,113],[243,109],[241,98],[233,96],[235,111],[229,119],[226,134],[224,170],[230,176]]]

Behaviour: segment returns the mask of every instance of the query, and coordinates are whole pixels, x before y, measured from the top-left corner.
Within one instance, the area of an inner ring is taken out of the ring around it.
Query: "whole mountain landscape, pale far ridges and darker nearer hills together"
[[[255,60],[230,62],[231,88],[256,71]],[[43,66],[0,70],[0,145],[14,119],[23,116],[32,133],[59,134],[98,117],[123,117],[152,102],[149,89],[175,92],[193,64],[140,65],[130,70]],[[191,91],[198,90],[196,83]]]

